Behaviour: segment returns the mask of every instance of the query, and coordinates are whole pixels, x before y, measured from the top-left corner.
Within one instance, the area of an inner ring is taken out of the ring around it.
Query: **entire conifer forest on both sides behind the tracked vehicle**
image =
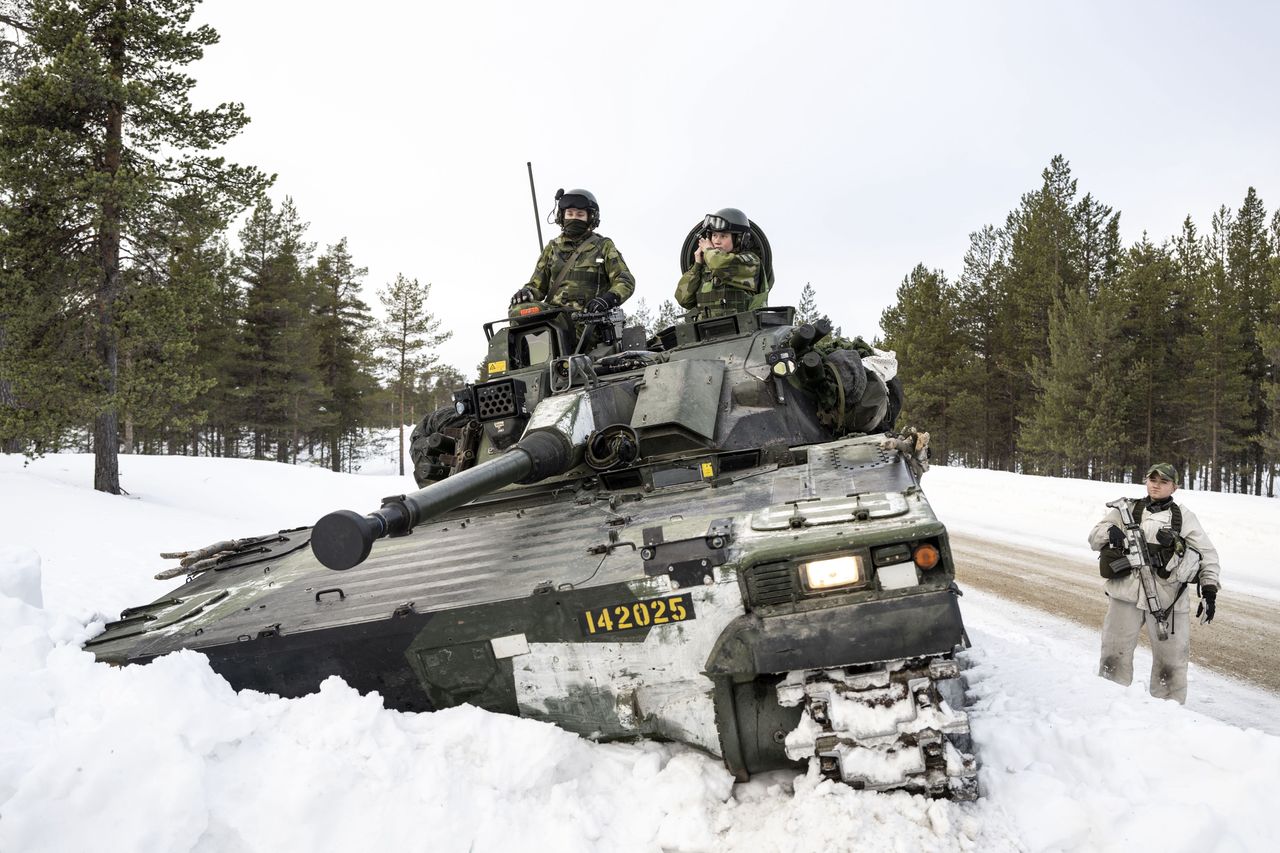
[[[384,283],[376,319],[347,241],[317,246],[271,175],[214,154],[248,117],[188,97],[218,41],[195,5],[0,0],[0,452],[92,450],[108,492],[120,452],[352,470],[465,382],[430,284]],[[1253,188],[1126,247],[1057,156],[959,275],[902,279],[879,345],[936,462],[1126,480],[1171,460],[1274,494],[1277,304],[1280,211]],[[809,286],[800,313],[820,315]]]

